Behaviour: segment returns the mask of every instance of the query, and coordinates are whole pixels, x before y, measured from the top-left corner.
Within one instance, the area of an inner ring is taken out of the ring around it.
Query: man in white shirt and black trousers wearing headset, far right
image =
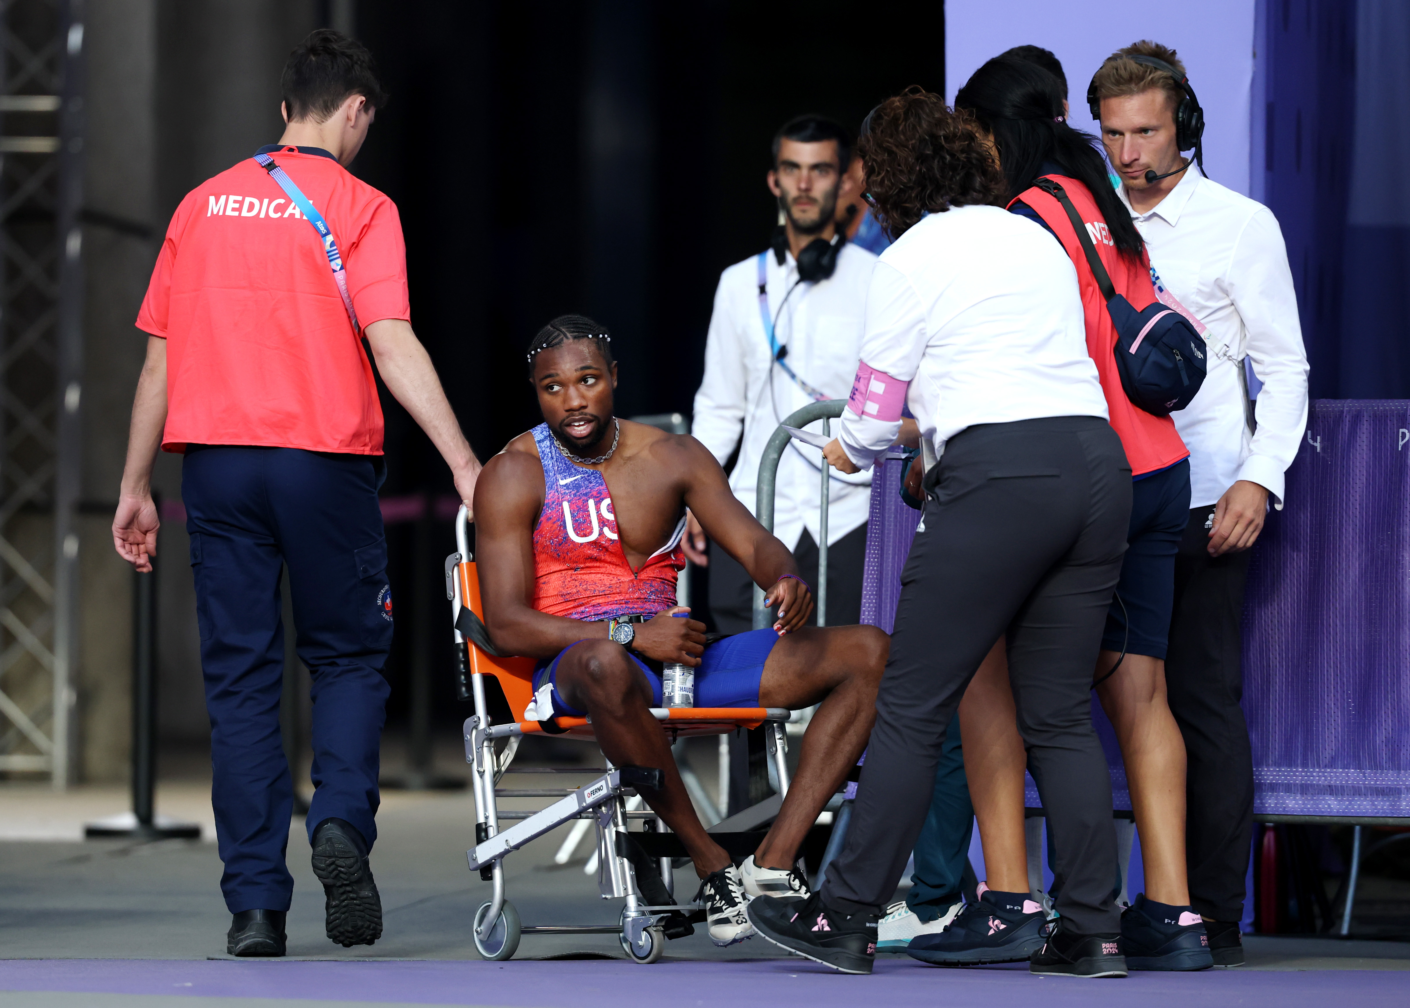
[[[1173,414],[1190,450],[1191,510],[1165,677],[1187,753],[1190,902],[1215,966],[1239,966],[1253,826],[1239,616],[1248,548],[1268,506],[1283,506],[1283,472],[1307,424],[1297,297],[1273,214],[1203,173],[1204,110],[1175,49],[1142,41],[1112,54],[1087,103],[1146,241],[1156,293],[1210,350],[1198,395]],[[1193,159],[1182,156],[1191,149]],[[1256,406],[1249,365],[1262,381]]]

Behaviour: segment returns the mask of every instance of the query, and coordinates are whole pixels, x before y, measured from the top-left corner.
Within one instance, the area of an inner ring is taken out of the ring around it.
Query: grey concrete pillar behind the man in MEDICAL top
[[[82,637],[76,766],[125,780],[131,722],[133,575],[113,551],[111,510],[147,337],[134,320],[182,196],[279,137],[279,72],[316,27],[316,0],[103,0],[89,4],[83,234]],[[159,725],[209,739],[189,540],[176,517],[180,460],[161,455],[168,502],[158,544]]]

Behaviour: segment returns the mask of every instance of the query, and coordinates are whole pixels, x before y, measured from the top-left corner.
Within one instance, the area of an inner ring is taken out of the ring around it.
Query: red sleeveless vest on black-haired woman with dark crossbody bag
[[[1117,252],[1115,242],[1107,228],[1107,221],[1091,197],[1091,192],[1077,179],[1065,175],[1049,175],[1067,193],[1067,199],[1077,207],[1077,213],[1087,224],[1087,234],[1091,244],[1101,257],[1101,265],[1111,275],[1111,285],[1138,312],[1155,303],[1155,285],[1151,283],[1151,262],[1145,252],[1141,262]],[[1087,265],[1087,255],[1077,241],[1067,211],[1063,210],[1053,196],[1049,196],[1038,186],[1028,189],[1018,196],[1019,200],[1034,209],[1043,219],[1043,223],[1053,230],[1067,250],[1067,258],[1077,268],[1077,285],[1081,289],[1081,310],[1087,324],[1087,352],[1097,365],[1097,376],[1101,379],[1101,391],[1107,396],[1107,412],[1111,414],[1111,426],[1121,437],[1121,447],[1127,450],[1127,461],[1131,462],[1131,475],[1139,477],[1155,472],[1169,465],[1175,465],[1182,458],[1189,458],[1190,450],[1184,447],[1175,420],[1169,416],[1152,416],[1127,399],[1121,388],[1121,375],[1117,374],[1114,351],[1117,347],[1117,327],[1107,314],[1107,300],[1101,296],[1097,278],[1091,275]]]

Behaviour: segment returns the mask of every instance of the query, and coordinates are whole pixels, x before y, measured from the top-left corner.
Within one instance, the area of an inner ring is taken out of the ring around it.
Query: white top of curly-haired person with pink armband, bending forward
[[[862,359],[884,372],[881,383],[909,382],[907,403],[936,457],[979,423],[1107,419],[1072,259],[1042,227],[1000,207],[932,213],[881,252]],[[900,426],[849,406],[839,437],[869,468]]]

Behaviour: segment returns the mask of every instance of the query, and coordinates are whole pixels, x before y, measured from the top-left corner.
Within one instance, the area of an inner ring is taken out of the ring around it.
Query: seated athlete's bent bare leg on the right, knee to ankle
[[[760,706],[797,711],[819,701],[821,706],[802,737],[788,797],[754,853],[759,867],[792,867],[822,806],[866,749],[890,643],[874,626],[809,627],[783,637],[768,653]]]

